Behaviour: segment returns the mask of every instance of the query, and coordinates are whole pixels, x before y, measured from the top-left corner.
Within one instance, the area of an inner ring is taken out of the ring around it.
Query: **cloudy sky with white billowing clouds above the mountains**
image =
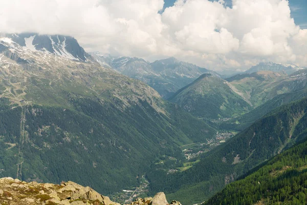
[[[2,0],[0,32],[71,35],[88,52],[216,71],[307,67],[307,0]]]

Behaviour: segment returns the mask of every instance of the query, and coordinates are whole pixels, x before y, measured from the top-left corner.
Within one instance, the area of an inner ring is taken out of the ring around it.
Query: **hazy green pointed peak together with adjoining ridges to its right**
[[[199,118],[232,118],[232,124],[246,124],[266,114],[263,108],[268,107],[265,105],[267,101],[281,94],[301,92],[307,88],[306,76],[306,69],[291,75],[258,71],[226,79],[203,74],[193,83],[180,89],[169,100]],[[305,92],[301,93],[304,95]]]

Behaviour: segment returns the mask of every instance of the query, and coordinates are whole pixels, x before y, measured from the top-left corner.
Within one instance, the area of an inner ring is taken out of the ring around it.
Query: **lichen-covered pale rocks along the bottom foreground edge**
[[[26,182],[11,177],[0,179],[0,204],[23,205],[120,205],[102,196],[90,187],[83,187],[73,181],[63,182],[61,185],[53,183]],[[158,193],[151,198],[138,198],[130,205],[168,205],[165,194]],[[181,205],[172,201],[171,205]]]

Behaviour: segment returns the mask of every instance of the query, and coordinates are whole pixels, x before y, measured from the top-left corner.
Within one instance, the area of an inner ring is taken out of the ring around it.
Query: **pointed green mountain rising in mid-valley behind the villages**
[[[226,80],[211,74],[203,74],[169,100],[194,116],[209,119],[233,117],[251,109]]]

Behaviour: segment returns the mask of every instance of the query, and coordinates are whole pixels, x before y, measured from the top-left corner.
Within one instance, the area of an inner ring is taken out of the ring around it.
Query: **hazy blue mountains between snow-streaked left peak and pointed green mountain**
[[[221,77],[216,72],[179,61],[173,57],[149,63],[137,57],[114,58],[98,53],[92,55],[100,65],[111,67],[124,75],[142,80],[157,90],[165,99],[204,73]]]

